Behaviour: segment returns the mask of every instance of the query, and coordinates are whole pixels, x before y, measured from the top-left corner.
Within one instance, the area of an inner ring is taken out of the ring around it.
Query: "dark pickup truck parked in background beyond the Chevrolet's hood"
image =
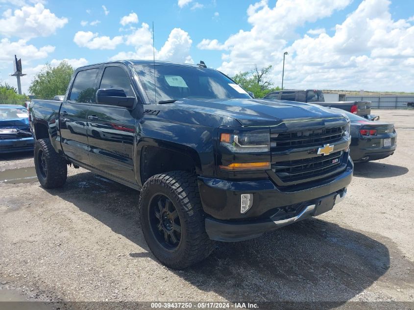
[[[371,101],[338,101],[338,102],[325,102],[322,91],[319,90],[283,90],[271,92],[263,97],[264,99],[280,99],[297,102],[306,102],[318,104],[324,107],[338,108],[345,110],[352,114],[362,116],[366,119],[373,119],[371,116]]]

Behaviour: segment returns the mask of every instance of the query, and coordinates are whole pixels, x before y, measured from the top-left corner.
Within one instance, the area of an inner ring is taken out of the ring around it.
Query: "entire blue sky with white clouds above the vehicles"
[[[414,1],[0,0],[0,16],[0,81],[16,53],[25,92],[46,62],[152,57],[152,22],[157,59],[272,65],[280,85],[286,50],[290,88],[414,91]]]

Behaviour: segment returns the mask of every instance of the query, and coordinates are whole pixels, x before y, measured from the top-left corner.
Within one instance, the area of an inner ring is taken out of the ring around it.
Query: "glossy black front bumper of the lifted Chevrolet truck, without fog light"
[[[343,197],[352,180],[353,167],[348,157],[346,168],[337,175],[285,188],[276,186],[270,179],[235,182],[199,177],[207,234],[220,241],[254,238],[265,231],[281,227],[280,223],[275,222],[275,216],[281,215],[281,211],[286,208],[293,210],[290,215],[294,217],[306,207],[315,205],[314,210],[308,210],[299,218],[318,215],[322,210],[320,205],[330,205],[329,201],[334,202],[338,194]],[[246,193],[253,194],[253,205],[245,214],[241,214],[241,194]],[[326,211],[332,209],[333,205]]]

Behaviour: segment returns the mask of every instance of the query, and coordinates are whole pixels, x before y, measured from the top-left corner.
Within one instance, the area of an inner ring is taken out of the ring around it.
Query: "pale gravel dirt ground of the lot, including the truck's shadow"
[[[356,164],[341,204],[261,238],[218,243],[207,260],[181,271],[148,252],[138,191],[74,168],[63,188],[45,190],[30,179],[30,154],[1,156],[0,301],[331,301],[411,309],[414,111],[373,112],[395,123],[396,153]],[[16,168],[25,183],[4,182]]]

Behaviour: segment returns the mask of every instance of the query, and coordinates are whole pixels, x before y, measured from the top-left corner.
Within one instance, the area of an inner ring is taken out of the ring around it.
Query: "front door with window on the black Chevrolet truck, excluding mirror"
[[[99,88],[122,89],[136,97],[123,65],[105,67]],[[88,111],[87,128],[91,165],[135,183],[133,164],[134,124],[132,111],[124,107],[93,103]]]

